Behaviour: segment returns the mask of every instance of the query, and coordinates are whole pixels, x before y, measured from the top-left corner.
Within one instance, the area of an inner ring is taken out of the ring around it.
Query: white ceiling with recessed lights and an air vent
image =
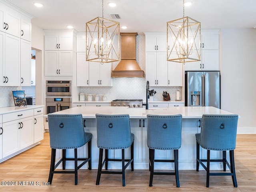
[[[34,16],[32,24],[42,29],[74,26],[85,31],[85,23],[102,16],[102,0],[6,0]],[[252,28],[256,25],[256,0],[185,0],[185,16],[201,22],[201,28]],[[37,8],[33,2],[44,6]],[[108,2],[115,2],[111,8]],[[104,0],[104,18],[119,14],[120,32],[165,32],[166,22],[183,17],[182,0]]]

